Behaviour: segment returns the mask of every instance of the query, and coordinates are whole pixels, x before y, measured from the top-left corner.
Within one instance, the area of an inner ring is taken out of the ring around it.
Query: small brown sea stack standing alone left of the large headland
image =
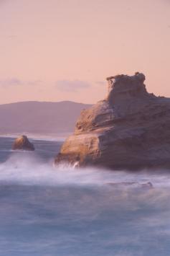
[[[34,151],[34,145],[31,142],[29,142],[27,136],[23,135],[19,138],[16,138],[14,144],[12,145],[12,149]]]

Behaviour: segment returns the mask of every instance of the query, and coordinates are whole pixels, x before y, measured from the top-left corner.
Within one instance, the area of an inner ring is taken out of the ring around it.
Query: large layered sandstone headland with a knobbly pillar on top
[[[170,99],[146,91],[145,76],[107,78],[105,100],[83,110],[55,163],[109,169],[170,167]]]

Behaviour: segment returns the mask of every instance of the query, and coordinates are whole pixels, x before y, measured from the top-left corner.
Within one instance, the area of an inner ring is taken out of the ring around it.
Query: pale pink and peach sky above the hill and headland
[[[0,104],[95,103],[105,78],[170,97],[170,0],[0,0]]]

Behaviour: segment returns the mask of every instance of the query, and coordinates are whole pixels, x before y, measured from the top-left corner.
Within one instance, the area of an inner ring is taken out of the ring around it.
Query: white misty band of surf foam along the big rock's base
[[[108,183],[151,182],[154,187],[170,187],[169,172],[126,172],[106,169],[74,168],[62,164],[54,167],[52,161],[44,163],[34,154],[17,152],[0,164],[0,182],[24,185],[105,185]],[[132,184],[133,185],[133,184]]]

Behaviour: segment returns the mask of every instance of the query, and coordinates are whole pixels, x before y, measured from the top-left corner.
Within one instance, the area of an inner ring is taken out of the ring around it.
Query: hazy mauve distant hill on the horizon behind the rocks
[[[0,105],[0,134],[57,134],[74,130],[82,109],[76,102],[16,102]]]

